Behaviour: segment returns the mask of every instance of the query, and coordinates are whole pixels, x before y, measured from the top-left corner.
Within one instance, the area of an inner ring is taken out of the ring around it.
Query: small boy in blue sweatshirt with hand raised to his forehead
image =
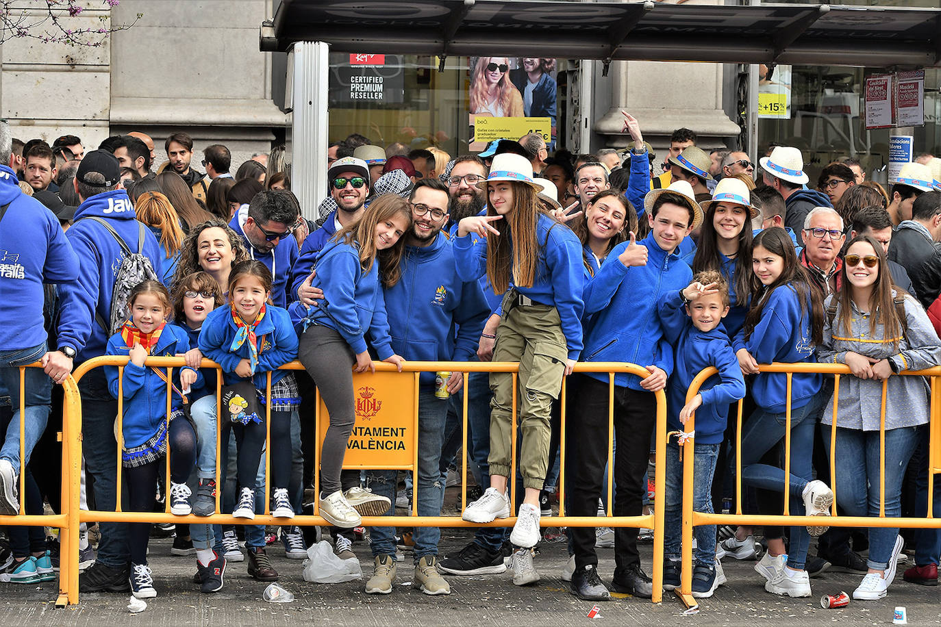
[[[712,474],[726,431],[728,405],[745,396],[742,368],[722,319],[729,309],[728,286],[715,271],[696,274],[683,290],[665,294],[659,310],[664,335],[674,346],[675,368],[667,387],[669,431],[694,433],[693,508],[712,512]],[[718,368],[694,399],[686,402],[686,391],[694,377],[705,368]],[[695,414],[695,429],[688,421]],[[687,455],[689,449],[687,448]],[[687,461],[689,458],[687,458]],[[679,586],[680,530],[682,528],[683,462],[677,442],[666,447],[666,528],[663,588]],[[710,597],[725,581],[722,565],[715,558],[715,525],[694,527],[696,540],[693,596]]]

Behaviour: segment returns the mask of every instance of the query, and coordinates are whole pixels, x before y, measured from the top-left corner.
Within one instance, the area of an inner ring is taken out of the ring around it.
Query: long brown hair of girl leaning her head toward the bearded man
[[[395,194],[384,194],[376,197],[363,212],[359,220],[352,222],[337,231],[333,239],[343,243],[359,243],[359,267],[363,272],[369,272],[375,259],[379,259],[379,280],[386,288],[391,288],[399,282],[402,276],[402,255],[406,248],[406,233],[385,250],[375,248],[375,226],[395,215],[405,216],[407,219],[406,231],[411,228],[411,207],[408,201]]]

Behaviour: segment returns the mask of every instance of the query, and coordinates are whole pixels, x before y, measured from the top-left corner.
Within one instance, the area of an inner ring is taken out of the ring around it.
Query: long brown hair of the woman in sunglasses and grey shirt
[[[845,196],[845,195],[844,195]],[[856,242],[865,242],[872,246],[872,251],[879,258],[879,274],[872,284],[872,293],[869,294],[869,336],[875,337],[876,327],[883,325],[883,339],[891,339],[892,346],[898,348],[902,335],[902,321],[895,308],[896,296],[903,297],[907,293],[892,282],[892,273],[889,272],[888,262],[881,243],[869,235],[857,235],[847,245],[847,249]],[[849,335],[853,324],[853,285],[850,283],[850,266],[843,263],[843,283],[834,298],[839,303],[840,323],[843,331]],[[895,292],[893,295],[892,292]]]

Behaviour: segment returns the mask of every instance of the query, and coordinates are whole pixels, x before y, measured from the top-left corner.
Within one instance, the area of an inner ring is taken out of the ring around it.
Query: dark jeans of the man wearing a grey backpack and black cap
[[[115,440],[115,417],[118,400],[108,392],[104,368],[93,368],[78,383],[82,395],[82,435],[85,471],[91,493],[92,509],[114,511],[117,502],[118,441]],[[127,485],[122,484],[121,503],[129,511]],[[123,569],[131,559],[127,523],[99,523],[102,532],[98,542],[98,562]]]

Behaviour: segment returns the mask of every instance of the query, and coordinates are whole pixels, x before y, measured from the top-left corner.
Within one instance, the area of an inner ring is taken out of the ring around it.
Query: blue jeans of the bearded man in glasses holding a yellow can
[[[439,516],[444,504],[444,483],[441,480],[441,443],[444,422],[448,415],[448,401],[439,399],[434,391],[423,390],[418,400],[418,499],[419,516]],[[369,471],[366,474],[370,489],[391,500],[390,511],[395,512],[395,484],[397,471]],[[441,529],[437,526],[417,526],[412,532],[415,541],[415,563],[424,556],[438,555]],[[369,543],[374,556],[395,555],[395,529],[375,526],[369,532]]]

